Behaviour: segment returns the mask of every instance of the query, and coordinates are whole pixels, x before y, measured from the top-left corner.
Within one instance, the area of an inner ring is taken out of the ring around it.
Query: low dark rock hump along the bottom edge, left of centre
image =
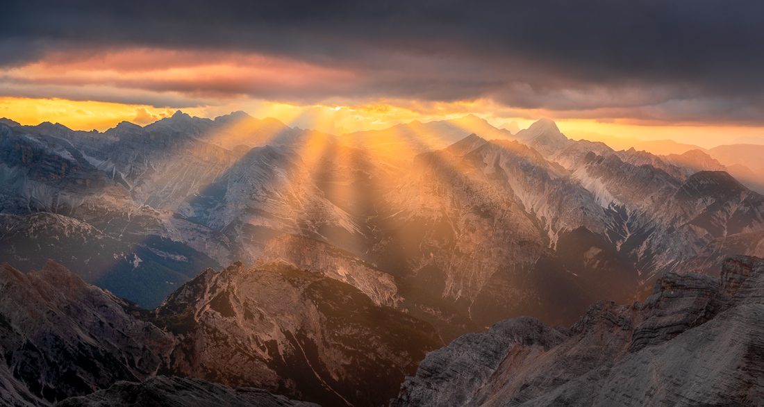
[[[298,402],[261,389],[228,387],[173,376],[155,376],[141,383],[118,382],[108,389],[89,396],[73,397],[57,404],[59,407],[128,407],[161,405],[163,407],[319,407]]]

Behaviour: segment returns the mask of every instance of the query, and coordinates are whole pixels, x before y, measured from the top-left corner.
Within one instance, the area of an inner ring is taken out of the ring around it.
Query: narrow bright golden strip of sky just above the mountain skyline
[[[484,118],[496,127],[507,128],[514,122],[527,128],[542,117],[503,117],[494,112],[490,102],[432,102],[387,101],[350,104],[293,105],[284,102],[241,99],[225,105],[181,108],[189,115],[215,118],[231,111],[243,110],[254,118],[275,118],[291,127],[309,128],[329,134],[354,131],[384,130],[396,124],[412,121],[452,120],[465,115]],[[151,105],[115,102],[75,101],[68,99],[34,99],[0,97],[0,117],[20,124],[35,125],[44,121],[60,123],[73,130],[105,131],[121,121],[146,125],[169,117],[177,108],[157,108]],[[521,112],[522,113],[522,112]],[[764,129],[725,124],[642,124],[633,120],[596,121],[591,119],[552,118],[561,131],[571,138],[593,141],[613,137],[632,137],[643,141],[672,140],[710,148],[738,142],[764,144]],[[427,141],[423,141],[427,142]]]

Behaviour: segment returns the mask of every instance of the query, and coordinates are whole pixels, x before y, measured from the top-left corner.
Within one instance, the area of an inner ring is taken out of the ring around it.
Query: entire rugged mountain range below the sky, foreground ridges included
[[[404,376],[394,405],[656,392],[625,373],[650,352],[759,330],[760,264],[729,260],[764,257],[756,157],[614,150],[549,119],[339,136],[243,112],[103,133],[3,120],[4,401],[380,405]],[[730,352],[748,369],[759,346]],[[738,389],[755,377],[731,376],[730,398],[755,399]]]

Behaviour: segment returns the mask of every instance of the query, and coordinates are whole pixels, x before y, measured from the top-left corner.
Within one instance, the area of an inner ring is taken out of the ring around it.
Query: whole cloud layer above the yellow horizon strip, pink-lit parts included
[[[173,107],[490,99],[568,118],[761,124],[762,15],[762,2],[720,0],[11,0],[0,88]]]

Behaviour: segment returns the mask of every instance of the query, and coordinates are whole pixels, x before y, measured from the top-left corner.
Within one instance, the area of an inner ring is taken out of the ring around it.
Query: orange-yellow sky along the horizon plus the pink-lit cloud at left
[[[52,52],[0,69],[0,117],[21,124],[53,121],[77,130],[102,131],[120,121],[148,124],[178,108],[210,118],[243,110],[256,118],[273,117],[341,134],[474,114],[498,127],[514,121],[526,128],[537,118],[549,117],[571,134],[672,139],[701,147],[764,143],[760,127],[666,124],[630,118],[628,109],[566,112],[513,108],[490,99],[425,102],[332,96],[363,89],[367,80],[351,68],[254,53],[151,48]],[[253,93],[266,97],[256,99]],[[270,94],[273,99],[267,98]]]

